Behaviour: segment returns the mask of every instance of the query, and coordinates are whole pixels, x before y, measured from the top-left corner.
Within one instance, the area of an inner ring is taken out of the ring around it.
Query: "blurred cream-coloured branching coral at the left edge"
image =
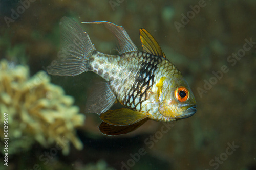
[[[65,95],[60,86],[50,83],[45,71],[29,78],[28,67],[0,62],[0,125],[7,113],[8,153],[29,149],[34,141],[49,147],[63,138],[82,149],[75,128],[83,125],[85,116],[73,103],[74,99]],[[4,138],[2,130],[0,137]],[[62,147],[62,153],[68,154],[69,144]]]

